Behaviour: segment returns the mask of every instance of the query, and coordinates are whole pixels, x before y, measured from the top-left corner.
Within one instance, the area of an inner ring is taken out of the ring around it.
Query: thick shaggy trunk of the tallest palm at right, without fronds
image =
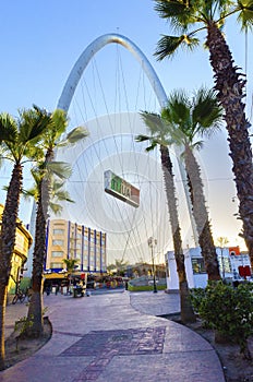
[[[206,41],[210,52],[210,64],[215,72],[215,88],[218,99],[225,109],[232,171],[236,176],[239,199],[239,215],[242,219],[242,237],[245,240],[253,270],[253,166],[252,150],[249,138],[250,122],[245,118],[245,80],[233,65],[232,55],[226,40],[215,25],[208,26]]]

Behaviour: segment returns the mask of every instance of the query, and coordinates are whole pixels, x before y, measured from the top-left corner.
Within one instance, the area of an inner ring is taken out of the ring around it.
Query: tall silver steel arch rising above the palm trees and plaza
[[[149,80],[149,83],[150,83],[150,85],[156,94],[156,97],[158,99],[160,108],[164,108],[167,105],[166,92],[165,92],[165,89],[160,83],[160,80],[157,76],[154,68],[152,67],[150,62],[146,58],[146,56],[128,37],[120,35],[120,34],[110,33],[110,34],[105,34],[105,35],[96,38],[93,43],[91,43],[87,46],[87,48],[79,57],[77,61],[75,62],[74,67],[71,70],[69,77],[65,82],[65,85],[62,89],[57,108],[60,108],[67,112],[69,111],[69,107],[71,105],[75,89],[76,89],[79,82],[84,73],[84,70],[88,65],[89,61],[101,48],[104,48],[108,44],[113,44],[113,43],[122,45],[138,61],[138,63],[141,64],[141,68],[143,69],[147,79]],[[179,157],[178,157],[178,164],[179,164],[181,177],[182,177],[182,179],[185,179],[185,171],[184,171],[184,168],[183,168],[182,163],[180,162]],[[190,201],[189,192],[188,192],[186,184],[184,181],[183,181],[183,189],[184,189],[184,193],[185,193],[185,198],[186,198],[186,204],[188,204],[189,216],[190,216],[191,226],[192,226],[193,239],[194,239],[195,246],[197,246],[197,234],[196,234],[195,222],[193,220],[193,216],[191,213],[191,201]]]

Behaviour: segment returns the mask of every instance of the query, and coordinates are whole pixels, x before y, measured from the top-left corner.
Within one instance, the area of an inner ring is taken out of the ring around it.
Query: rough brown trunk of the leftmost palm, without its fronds
[[[19,215],[20,192],[22,189],[22,166],[15,164],[8,188],[7,200],[2,213],[0,239],[0,370],[4,369],[4,321],[8,284],[11,273],[11,260],[15,247],[16,219]]]

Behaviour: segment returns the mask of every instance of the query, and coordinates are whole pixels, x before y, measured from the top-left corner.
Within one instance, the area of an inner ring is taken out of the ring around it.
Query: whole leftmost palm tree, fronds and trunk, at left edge
[[[1,158],[13,165],[2,213],[0,237],[0,370],[4,369],[4,317],[7,288],[11,272],[11,260],[15,246],[16,219],[20,206],[20,193],[23,187],[23,165],[40,153],[37,144],[48,124],[48,117],[39,110],[19,111],[14,119],[9,114],[0,115]]]

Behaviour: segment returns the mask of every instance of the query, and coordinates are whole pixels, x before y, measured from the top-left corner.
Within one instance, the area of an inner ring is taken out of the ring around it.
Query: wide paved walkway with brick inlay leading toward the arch
[[[225,382],[213,347],[176,322],[178,295],[129,291],[84,298],[45,296],[51,339],[0,372],[2,382]],[[24,305],[7,308],[7,330]]]

